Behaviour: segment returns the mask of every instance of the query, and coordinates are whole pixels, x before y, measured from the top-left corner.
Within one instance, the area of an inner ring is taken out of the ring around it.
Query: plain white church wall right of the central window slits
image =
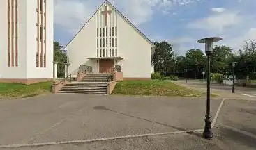
[[[120,16],[118,28],[123,78],[151,78],[152,45]]]

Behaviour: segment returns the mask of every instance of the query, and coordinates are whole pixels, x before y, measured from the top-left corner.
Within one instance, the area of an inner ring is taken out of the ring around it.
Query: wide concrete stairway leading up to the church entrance
[[[82,81],[67,83],[58,93],[107,94],[107,77],[110,74],[87,74]]]

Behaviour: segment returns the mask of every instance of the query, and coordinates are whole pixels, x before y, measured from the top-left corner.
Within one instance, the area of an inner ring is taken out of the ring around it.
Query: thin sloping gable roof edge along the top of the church
[[[149,40],[149,38],[146,37],[146,35],[144,35],[133,23],[131,23],[119,10],[117,10],[112,3],[110,3],[110,1],[105,0],[96,10],[96,12],[93,13],[93,15],[90,17],[90,19],[88,19],[88,21],[82,26],[82,28],[84,28],[84,26],[91,20],[91,18],[96,15],[96,13],[98,12],[98,10],[100,10],[100,8],[104,5],[104,3],[109,4],[112,8],[114,8],[114,10],[116,10],[116,12],[123,18],[126,20],[126,22],[128,22],[128,24],[130,24],[130,26],[133,26],[133,28],[135,28],[135,31],[137,31],[137,33],[139,33],[140,35],[142,35],[142,38],[144,38],[147,42],[149,42],[149,44],[152,45],[152,47],[154,47],[155,45],[153,44],[153,42],[151,40]],[[80,33],[80,31],[82,31],[82,28],[80,28],[80,30],[75,34],[75,36],[70,40],[70,42],[72,42],[72,40],[77,36],[78,33]],[[70,44],[70,42],[68,42],[68,44]],[[68,46],[68,44],[66,44],[65,48]]]

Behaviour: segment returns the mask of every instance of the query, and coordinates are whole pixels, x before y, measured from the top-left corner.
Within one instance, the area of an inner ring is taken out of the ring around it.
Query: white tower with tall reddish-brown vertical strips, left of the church
[[[0,83],[37,83],[53,76],[52,0],[0,1]]]

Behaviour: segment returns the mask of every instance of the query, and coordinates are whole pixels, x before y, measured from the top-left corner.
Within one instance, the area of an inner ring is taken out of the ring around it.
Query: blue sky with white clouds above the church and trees
[[[54,40],[66,46],[105,0],[54,0]],[[109,0],[151,41],[167,40],[177,55],[218,36],[237,51],[256,40],[256,0]]]

